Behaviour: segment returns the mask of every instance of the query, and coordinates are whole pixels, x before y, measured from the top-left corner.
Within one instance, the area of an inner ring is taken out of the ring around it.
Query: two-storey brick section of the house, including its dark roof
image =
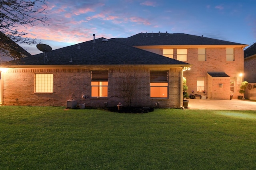
[[[138,33],[114,41],[159,55],[190,63],[184,71],[188,93],[204,95],[209,99],[229,100],[239,96],[243,81],[245,44],[212,39],[184,33]]]

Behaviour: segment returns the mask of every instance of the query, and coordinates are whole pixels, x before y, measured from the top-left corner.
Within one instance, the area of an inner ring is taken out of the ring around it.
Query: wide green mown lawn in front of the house
[[[2,170],[254,170],[255,111],[0,107]]]

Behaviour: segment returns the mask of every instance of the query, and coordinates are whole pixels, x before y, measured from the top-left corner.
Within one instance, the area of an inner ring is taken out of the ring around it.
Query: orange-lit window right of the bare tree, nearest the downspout
[[[150,98],[168,97],[168,71],[150,71]]]

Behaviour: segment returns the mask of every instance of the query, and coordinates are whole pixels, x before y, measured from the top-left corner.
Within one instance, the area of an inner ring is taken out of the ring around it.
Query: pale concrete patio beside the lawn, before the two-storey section
[[[256,101],[252,100],[210,100],[210,99],[189,99],[187,109],[200,110],[255,110]]]

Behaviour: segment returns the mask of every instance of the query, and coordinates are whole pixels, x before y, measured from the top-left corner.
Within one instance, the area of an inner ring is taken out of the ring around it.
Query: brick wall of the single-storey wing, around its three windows
[[[86,106],[104,107],[116,106],[118,102],[126,105],[118,86],[118,78],[126,70],[112,68],[108,71],[108,98],[91,98],[91,71],[90,69],[34,69],[17,68],[9,69],[4,73],[3,80],[3,105],[9,106],[66,106],[67,100],[75,99],[77,104],[85,103]],[[35,93],[35,74],[53,74],[53,93]],[[160,107],[180,108],[180,69],[169,71],[169,98],[150,98],[150,69],[140,70],[140,81],[134,93],[132,106],[155,107],[159,102]],[[82,96],[86,98],[83,99]]]

